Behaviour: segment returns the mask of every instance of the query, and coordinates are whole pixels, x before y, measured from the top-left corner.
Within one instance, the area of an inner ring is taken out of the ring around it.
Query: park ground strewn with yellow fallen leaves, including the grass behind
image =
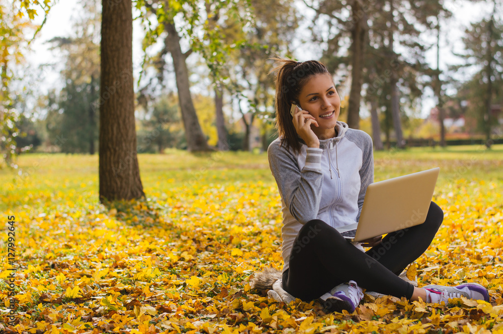
[[[434,200],[445,219],[415,262],[420,286],[478,282],[490,303],[367,295],[353,314],[249,290],[255,272],[283,265],[281,204],[264,154],[170,151],[139,160],[147,199],[111,209],[98,203],[96,156],[27,155],[21,174],[0,171],[0,331],[503,332],[502,146],[375,154],[376,181],[441,167]]]

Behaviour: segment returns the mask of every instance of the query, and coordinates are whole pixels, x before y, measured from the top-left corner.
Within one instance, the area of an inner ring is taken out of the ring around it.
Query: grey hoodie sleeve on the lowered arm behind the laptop
[[[354,142],[362,150],[362,168],[360,168],[360,192],[358,194],[358,216],[360,220],[362,213],[363,200],[369,184],[374,182],[374,151],[372,149],[372,138],[364,131],[353,130],[346,137]]]

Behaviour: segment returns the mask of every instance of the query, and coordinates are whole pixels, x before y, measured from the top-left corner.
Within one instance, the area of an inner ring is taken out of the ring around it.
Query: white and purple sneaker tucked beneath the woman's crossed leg
[[[362,288],[355,281],[339,284],[330,291],[330,294],[324,301],[325,309],[330,312],[347,310],[353,313],[363,298]]]

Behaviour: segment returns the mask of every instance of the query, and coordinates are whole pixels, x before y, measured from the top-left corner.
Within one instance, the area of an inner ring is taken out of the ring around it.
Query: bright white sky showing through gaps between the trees
[[[466,0],[453,2],[449,1],[446,5],[454,13],[454,17],[449,20],[448,26],[444,25],[441,36],[441,69],[446,69],[446,64],[454,64],[457,58],[453,56],[452,51],[461,52],[463,45],[460,37],[465,27],[470,22],[480,20],[484,14],[492,7],[487,6],[484,2],[471,3]],[[54,5],[47,18],[47,21],[39,32],[37,38],[32,42],[33,51],[28,54],[27,60],[34,68],[41,64],[58,63],[60,59],[55,51],[49,50],[49,44],[46,41],[53,37],[64,37],[71,34],[71,18],[78,14],[78,0],[59,0]],[[140,64],[142,61],[141,51],[142,29],[139,22],[133,22],[133,70],[135,77],[138,77]],[[436,37],[435,37],[436,40]],[[302,45],[298,45],[297,58],[299,60],[307,60],[315,58],[317,55],[312,52],[306,52],[301,49]],[[436,48],[433,47],[426,53],[426,57],[431,66],[436,66]],[[307,58],[306,58],[307,57]],[[61,86],[59,74],[57,71],[46,71],[43,73],[43,84],[41,89],[45,87]],[[435,99],[431,91],[425,91],[425,96],[422,101],[422,117],[426,117],[430,109],[435,105]],[[362,115],[364,116],[364,115]]]

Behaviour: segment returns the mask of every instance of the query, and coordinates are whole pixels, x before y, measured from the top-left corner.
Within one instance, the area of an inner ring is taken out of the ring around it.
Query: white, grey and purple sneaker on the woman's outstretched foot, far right
[[[464,296],[468,299],[489,301],[489,293],[487,289],[477,283],[465,283],[458,286],[443,286],[443,285],[427,285],[423,289],[430,291],[430,302],[447,303],[450,298],[460,298]]]

